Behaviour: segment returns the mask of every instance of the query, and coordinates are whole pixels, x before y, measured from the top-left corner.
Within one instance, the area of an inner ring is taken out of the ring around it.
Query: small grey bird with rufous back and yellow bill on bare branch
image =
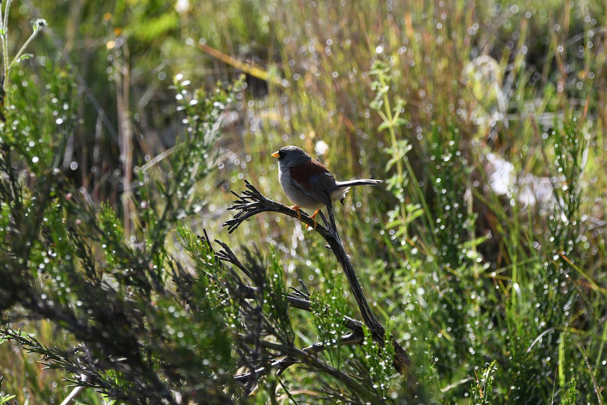
[[[344,203],[345,193],[351,186],[375,186],[384,182],[384,180],[372,179],[337,182],[329,169],[297,146],[284,146],[272,156],[278,158],[278,179],[283,191],[294,203],[291,208],[297,211],[297,219],[300,218],[300,207],[314,209],[314,214],[311,216],[314,228],[316,228],[316,215],[325,205],[331,218],[331,225],[335,228],[333,203],[337,200]],[[320,216],[324,219],[322,213]]]

